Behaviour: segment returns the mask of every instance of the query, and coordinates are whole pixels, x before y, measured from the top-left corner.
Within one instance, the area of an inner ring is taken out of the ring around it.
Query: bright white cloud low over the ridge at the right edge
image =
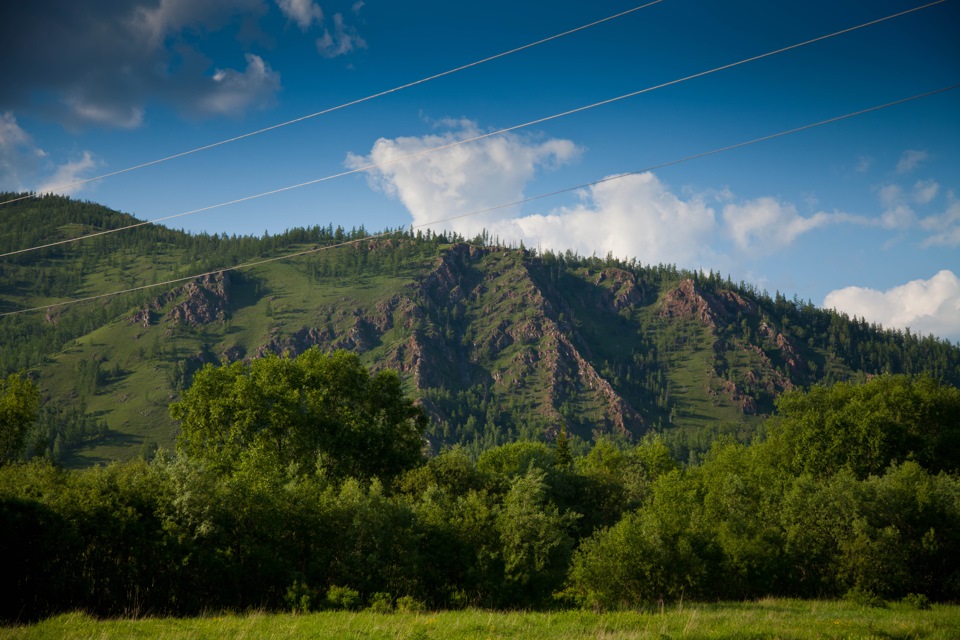
[[[887,328],[909,327],[914,333],[960,340],[960,278],[946,269],[929,280],[913,280],[887,291],[863,287],[832,291],[823,306]]]

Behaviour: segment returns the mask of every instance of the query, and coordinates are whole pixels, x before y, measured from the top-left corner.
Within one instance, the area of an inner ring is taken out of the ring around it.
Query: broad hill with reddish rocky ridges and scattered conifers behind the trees
[[[69,198],[27,199],[0,210],[0,253],[135,222]],[[790,389],[888,372],[960,384],[960,348],[947,341],[716,273],[486,236],[316,226],[226,237],[144,225],[0,258],[0,312],[311,249],[0,318],[3,374],[29,371],[46,398],[34,451],[84,465],[171,447],[168,406],[204,363],[314,345],[398,370],[430,417],[434,448],[473,451],[551,440],[565,426],[583,440],[662,432],[686,458],[721,433],[749,438]]]

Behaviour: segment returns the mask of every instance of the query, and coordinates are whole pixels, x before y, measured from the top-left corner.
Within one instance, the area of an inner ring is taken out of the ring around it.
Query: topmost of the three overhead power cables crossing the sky
[[[297,124],[298,122],[303,122],[303,121],[305,121],[305,120],[310,120],[311,118],[316,118],[316,117],[318,117],[318,116],[326,115],[326,114],[328,114],[328,113],[333,113],[334,111],[339,111],[339,110],[341,110],[341,109],[346,109],[347,107],[352,107],[352,106],[361,104],[361,103],[363,103],[363,102],[368,102],[368,101],[370,101],[370,100],[375,100],[376,98],[382,98],[383,96],[389,95],[389,94],[391,94],[391,93],[396,93],[397,91],[403,91],[404,89],[409,89],[409,88],[411,88],[411,87],[415,87],[415,86],[417,86],[417,85],[424,84],[424,83],[426,83],[426,82],[430,82],[431,80],[437,80],[437,79],[442,78],[442,77],[444,77],[444,76],[449,76],[449,75],[454,74],[454,73],[457,73],[457,72],[459,72],[459,71],[465,71],[465,70],[470,69],[470,68],[472,68],[472,67],[477,67],[477,66],[480,66],[481,64],[484,64],[484,63],[487,63],[487,62],[492,62],[493,60],[497,60],[497,59],[499,59],[499,58],[503,58],[503,57],[512,55],[512,54],[514,54],[514,53],[519,53],[519,52],[521,52],[521,51],[524,51],[524,50],[526,50],[526,49],[531,49],[531,48],[536,47],[536,46],[539,46],[539,45],[541,45],[541,44],[546,44],[547,42],[550,42],[550,41],[552,41],[552,40],[557,40],[557,39],[559,39],[559,38],[563,38],[563,37],[565,37],[565,36],[572,35],[572,34],[577,33],[577,32],[579,32],[579,31],[583,31],[583,30],[585,30],[585,29],[590,29],[591,27],[596,27],[596,26],[601,25],[601,24],[603,24],[603,23],[605,23],[605,22],[610,22],[611,20],[616,20],[617,18],[622,18],[623,16],[629,15],[629,14],[634,13],[634,12],[636,12],[636,11],[640,11],[641,9],[646,9],[647,7],[652,7],[652,6],[655,5],[655,4],[660,4],[660,3],[663,2],[663,1],[664,1],[664,0],[653,0],[652,2],[648,2],[648,3],[646,3],[646,4],[643,4],[643,5],[640,5],[640,6],[637,6],[637,7],[633,7],[632,9],[627,9],[626,11],[621,11],[620,13],[615,13],[615,14],[613,14],[612,16],[607,16],[606,18],[601,18],[600,20],[594,20],[593,22],[590,22],[590,23],[588,23],[588,24],[581,25],[581,26],[576,27],[576,28],[574,28],[574,29],[569,29],[569,30],[564,31],[564,32],[562,32],[562,33],[558,33],[558,34],[552,35],[552,36],[550,36],[550,37],[543,38],[543,39],[541,39],[541,40],[537,40],[536,42],[531,42],[531,43],[529,43],[529,44],[525,44],[525,45],[523,45],[523,46],[516,47],[516,48],[514,48],[514,49],[510,49],[509,51],[504,51],[504,52],[502,52],[502,53],[498,53],[498,54],[496,54],[496,55],[492,55],[492,56],[483,58],[483,59],[481,59],[481,60],[476,60],[476,61],[474,61],[474,62],[470,62],[470,63],[468,63],[468,64],[465,64],[465,65],[456,67],[456,68],[454,68],[454,69],[449,69],[449,70],[447,70],[447,71],[442,71],[442,72],[436,73],[436,74],[434,74],[434,75],[432,75],[432,76],[427,76],[427,77],[421,78],[421,79],[419,79],[419,80],[414,80],[413,82],[408,82],[408,83],[406,83],[406,84],[402,84],[402,85],[397,86],[397,87],[394,87],[394,88],[392,88],[392,89],[387,89],[386,91],[381,91],[381,92],[379,92],[379,93],[374,93],[374,94],[371,94],[371,95],[366,96],[366,97],[364,97],[364,98],[358,98],[358,99],[356,99],[356,100],[351,100],[351,101],[349,101],[349,102],[344,102],[343,104],[339,104],[339,105],[337,105],[337,106],[335,106],[335,107],[329,107],[329,108],[327,108],[327,109],[323,109],[322,111],[317,111],[317,112],[315,112],[315,113],[310,113],[310,114],[307,114],[307,115],[305,115],[305,116],[300,116],[299,118],[294,118],[293,120],[287,120],[286,122],[280,122],[280,123],[278,123],[278,124],[274,124],[274,125],[271,125],[271,126],[269,126],[269,127],[264,127],[263,129],[257,129],[256,131],[251,131],[251,132],[249,132],[249,133],[244,133],[244,134],[241,134],[241,135],[239,135],[239,136],[234,136],[234,137],[232,137],[232,138],[227,138],[226,140],[221,140],[221,141],[219,141],[219,142],[213,142],[213,143],[210,143],[210,144],[206,144],[206,145],[203,145],[202,147],[197,147],[196,149],[190,149],[190,150],[188,150],[188,151],[181,151],[180,153],[175,153],[175,154],[173,154],[173,155],[166,156],[166,157],[163,157],[163,158],[158,158],[158,159],[156,159],[156,160],[150,160],[149,162],[144,162],[144,163],[141,163],[141,164],[138,164],[138,165],[130,166],[130,167],[127,167],[127,168],[125,168],[125,169],[118,169],[118,170],[116,170],[116,171],[111,171],[111,172],[109,172],[109,173],[104,173],[104,174],[102,174],[102,175],[95,176],[95,177],[93,177],[93,178],[86,178],[86,179],[84,179],[84,180],[78,180],[78,181],[76,181],[76,182],[71,182],[70,184],[61,185],[61,186],[59,186],[59,187],[53,187],[52,189],[46,190],[44,193],[55,193],[55,192],[58,192],[58,191],[65,191],[65,190],[67,190],[67,189],[72,189],[73,187],[79,187],[79,186],[83,186],[83,185],[85,185],[85,184],[89,184],[89,183],[91,183],[91,182],[96,182],[97,180],[104,180],[104,179],[106,179],[106,178],[111,178],[111,177],[113,177],[113,176],[117,176],[117,175],[120,175],[120,174],[122,174],[122,173],[129,173],[129,172],[131,172],[131,171],[136,171],[137,169],[144,169],[144,168],[146,168],[146,167],[151,167],[151,166],[153,166],[153,165],[157,165],[157,164],[161,164],[161,163],[164,163],[164,162],[168,162],[168,161],[170,161],[170,160],[176,160],[177,158],[182,158],[182,157],[184,157],[184,156],[189,156],[189,155],[192,155],[192,154],[194,154],[194,153],[199,153],[200,151],[206,151],[206,150],[208,150],[208,149],[213,149],[213,148],[216,148],[216,147],[221,147],[221,146],[223,146],[223,145],[225,145],[225,144],[229,144],[229,143],[231,143],[231,142],[237,142],[237,141],[243,140],[243,139],[245,139],[245,138],[251,138],[251,137],[253,137],[253,136],[260,135],[261,133],[267,133],[268,131],[273,131],[273,130],[275,130],[275,129],[280,129],[280,128],[282,128],[282,127],[286,127],[286,126],[289,126],[289,125],[291,125],[291,124]],[[20,200],[26,200],[26,199],[28,199],[28,198],[34,198],[34,197],[37,197],[37,195],[36,195],[36,194],[30,194],[30,195],[20,196],[20,197],[18,197],[18,198],[13,198],[13,199],[10,199],[10,200],[5,200],[5,201],[3,201],[3,202],[0,202],[0,206],[5,205],[5,204],[10,204],[11,202],[19,202]]]

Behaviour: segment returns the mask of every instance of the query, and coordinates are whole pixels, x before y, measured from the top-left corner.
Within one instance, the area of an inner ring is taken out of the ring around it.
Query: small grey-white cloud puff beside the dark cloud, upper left
[[[248,53],[247,68],[217,69],[208,93],[199,103],[206,114],[238,115],[250,106],[263,106],[280,89],[280,74],[270,68],[260,56]]]

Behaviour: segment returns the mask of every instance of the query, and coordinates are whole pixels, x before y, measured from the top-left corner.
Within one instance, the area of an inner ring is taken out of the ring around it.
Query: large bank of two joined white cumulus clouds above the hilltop
[[[369,171],[371,183],[400,200],[417,226],[436,222],[432,226],[437,230],[467,237],[486,230],[503,241],[542,249],[612,252],[652,263],[698,266],[712,255],[709,241],[716,221],[707,201],[714,198],[677,196],[652,173],[610,176],[583,189],[578,204],[546,213],[521,216],[518,206],[501,206],[522,200],[525,186],[541,168],[574,160],[580,149],[569,140],[506,134],[399,160],[482,133],[469,120],[443,124],[451,130],[380,139],[369,155],[350,155],[347,165],[390,162]],[[456,218],[489,207],[497,209]]]

